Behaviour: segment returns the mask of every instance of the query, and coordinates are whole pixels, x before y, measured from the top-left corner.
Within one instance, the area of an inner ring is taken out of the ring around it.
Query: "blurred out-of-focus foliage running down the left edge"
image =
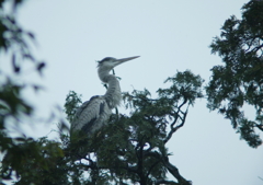
[[[39,171],[49,171],[54,167],[57,158],[64,155],[59,143],[44,138],[34,140],[26,137],[21,130],[21,119],[27,117],[28,122],[34,112],[32,106],[22,97],[25,89],[38,91],[37,84],[22,81],[24,62],[32,63],[33,72],[42,76],[45,62],[37,60],[31,53],[28,45],[34,42],[34,35],[23,30],[16,22],[15,11],[23,0],[0,0],[0,55],[11,56],[12,74],[0,69],[0,183],[20,178],[15,184],[30,184],[42,181]],[[11,12],[4,10],[4,3],[12,7]],[[20,81],[15,80],[20,78]],[[9,135],[9,127],[15,124],[16,135]]]

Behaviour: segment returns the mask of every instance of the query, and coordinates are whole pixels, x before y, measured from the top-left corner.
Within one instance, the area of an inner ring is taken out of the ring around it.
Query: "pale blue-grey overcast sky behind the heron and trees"
[[[38,115],[47,116],[55,105],[62,107],[70,90],[81,93],[83,101],[104,94],[95,60],[110,56],[141,56],[116,68],[123,91],[146,88],[155,96],[168,77],[186,69],[207,82],[209,69],[221,63],[208,45],[226,19],[240,18],[245,2],[28,0],[19,11],[20,23],[35,33],[38,44],[34,51],[47,62],[47,69],[43,79],[26,74],[25,80],[46,89],[25,95],[37,105]],[[125,113],[124,107],[119,112]],[[54,127],[26,129],[41,137]],[[190,108],[185,126],[168,147],[173,153],[171,162],[194,185],[263,184],[258,177],[263,177],[263,148],[252,149],[239,140],[230,122],[209,113],[205,100]]]

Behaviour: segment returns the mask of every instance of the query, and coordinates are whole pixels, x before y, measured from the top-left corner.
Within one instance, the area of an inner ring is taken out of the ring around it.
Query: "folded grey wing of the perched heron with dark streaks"
[[[111,115],[107,103],[103,96],[93,96],[84,102],[76,113],[71,124],[72,131],[90,134],[99,129]],[[96,125],[95,125],[96,124]]]

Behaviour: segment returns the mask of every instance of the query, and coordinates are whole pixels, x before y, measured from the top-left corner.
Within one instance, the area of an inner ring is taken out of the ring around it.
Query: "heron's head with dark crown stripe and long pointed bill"
[[[104,68],[105,70],[112,70],[114,67],[128,61],[128,60],[133,60],[135,58],[138,58],[139,56],[136,57],[128,57],[128,58],[121,58],[121,59],[116,59],[113,57],[106,57],[103,58],[101,61],[99,61],[98,68]]]

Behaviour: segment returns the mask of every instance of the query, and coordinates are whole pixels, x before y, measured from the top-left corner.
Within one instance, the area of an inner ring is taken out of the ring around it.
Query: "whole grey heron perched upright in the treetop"
[[[122,101],[119,82],[114,74],[110,74],[110,71],[116,66],[138,57],[122,59],[106,57],[99,61],[98,74],[100,80],[107,84],[106,93],[104,95],[92,96],[90,101],[84,102],[78,108],[75,120],[71,124],[71,131],[82,132],[90,137],[106,125],[112,115],[112,109],[117,107]]]

